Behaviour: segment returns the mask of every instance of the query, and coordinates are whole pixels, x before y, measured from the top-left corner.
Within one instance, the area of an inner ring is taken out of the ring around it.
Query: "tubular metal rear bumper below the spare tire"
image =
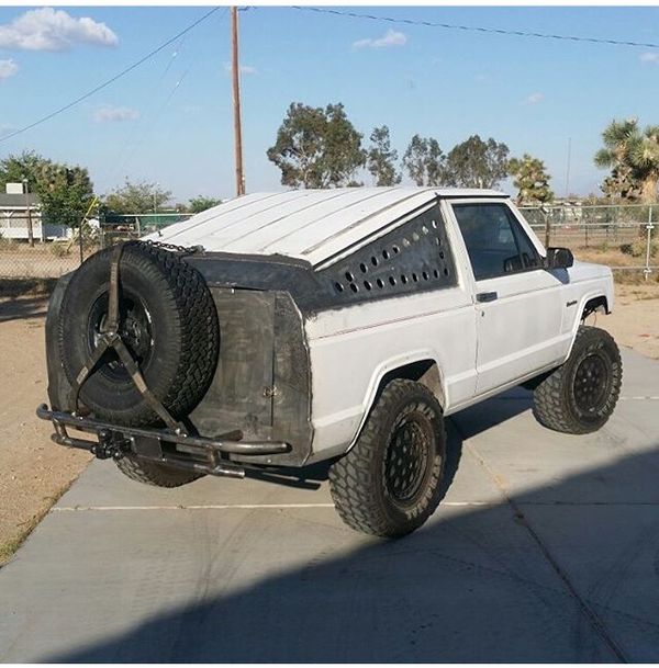
[[[120,427],[70,412],[49,410],[46,404],[42,404],[36,409],[36,416],[53,422],[55,433],[51,438],[59,445],[88,450],[102,460],[121,458],[130,454],[142,460],[210,475],[244,476],[242,466],[228,462],[222,455],[275,455],[291,450],[288,443],[282,442],[243,441],[239,431],[209,439],[177,434],[165,429]],[[71,437],[68,429],[92,434],[96,440]]]

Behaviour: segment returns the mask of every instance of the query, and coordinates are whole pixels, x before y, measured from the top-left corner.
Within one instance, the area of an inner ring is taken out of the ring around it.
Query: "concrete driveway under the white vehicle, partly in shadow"
[[[94,463],[0,570],[0,659],[657,661],[659,363],[624,363],[597,434],[521,389],[451,419],[453,485],[396,542],[340,523],[323,467],[161,490]]]

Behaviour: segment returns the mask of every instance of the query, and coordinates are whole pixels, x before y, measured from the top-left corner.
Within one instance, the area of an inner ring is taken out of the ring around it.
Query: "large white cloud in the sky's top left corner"
[[[74,19],[64,10],[45,7],[21,14],[0,25],[0,48],[62,52],[76,44],[114,46],[118,36],[104,24],[88,16]]]

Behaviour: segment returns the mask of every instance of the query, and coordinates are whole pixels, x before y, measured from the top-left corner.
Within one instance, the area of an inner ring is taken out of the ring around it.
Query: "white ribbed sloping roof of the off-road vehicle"
[[[235,197],[147,239],[209,251],[283,254],[315,265],[439,197],[504,197],[489,190],[343,188]]]

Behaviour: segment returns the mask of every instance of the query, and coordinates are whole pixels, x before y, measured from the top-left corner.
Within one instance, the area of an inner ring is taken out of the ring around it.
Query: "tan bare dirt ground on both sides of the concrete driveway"
[[[616,298],[611,316],[589,324],[659,359],[659,284],[617,285]],[[0,566],[91,458],[55,445],[51,424],[34,415],[47,400],[46,306],[44,296],[0,297]]]

